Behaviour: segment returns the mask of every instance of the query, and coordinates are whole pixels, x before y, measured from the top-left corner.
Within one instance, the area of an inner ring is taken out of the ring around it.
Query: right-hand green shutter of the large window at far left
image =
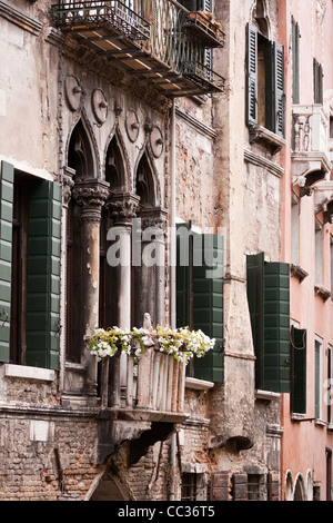
[[[29,205],[27,365],[58,368],[61,187],[43,180]]]

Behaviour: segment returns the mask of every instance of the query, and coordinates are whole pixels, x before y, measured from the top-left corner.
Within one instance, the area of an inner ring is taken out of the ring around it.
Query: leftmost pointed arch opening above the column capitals
[[[75,179],[98,178],[97,144],[84,115],[74,124],[68,139],[67,166],[74,170]]]

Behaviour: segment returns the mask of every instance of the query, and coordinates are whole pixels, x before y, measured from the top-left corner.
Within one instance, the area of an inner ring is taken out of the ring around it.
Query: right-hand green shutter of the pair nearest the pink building
[[[264,265],[264,389],[290,392],[290,266]]]

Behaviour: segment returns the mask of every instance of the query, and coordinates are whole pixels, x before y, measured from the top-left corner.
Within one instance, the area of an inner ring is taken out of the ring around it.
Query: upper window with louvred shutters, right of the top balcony
[[[248,24],[246,124],[284,137],[284,48]]]

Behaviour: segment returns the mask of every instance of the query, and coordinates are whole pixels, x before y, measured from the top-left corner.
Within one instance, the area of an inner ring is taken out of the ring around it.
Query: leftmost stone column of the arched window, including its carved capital
[[[81,362],[87,366],[85,392],[95,395],[97,362],[90,355],[87,339],[99,322],[99,268],[100,268],[100,221],[101,210],[109,195],[109,184],[90,179],[75,182],[73,198],[81,207],[82,243],[82,339]],[[73,297],[74,298],[74,297]]]

